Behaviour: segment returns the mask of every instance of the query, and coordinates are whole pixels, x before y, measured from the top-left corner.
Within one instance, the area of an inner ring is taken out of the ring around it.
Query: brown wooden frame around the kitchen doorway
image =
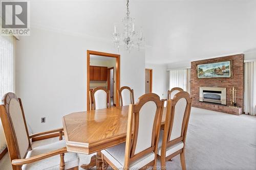
[[[90,110],[89,103],[89,90],[90,90],[90,55],[102,56],[102,57],[113,57],[116,59],[116,91],[120,89],[120,55],[104,53],[104,52],[96,52],[87,50],[87,110]],[[116,92],[116,106],[119,106],[118,95]]]

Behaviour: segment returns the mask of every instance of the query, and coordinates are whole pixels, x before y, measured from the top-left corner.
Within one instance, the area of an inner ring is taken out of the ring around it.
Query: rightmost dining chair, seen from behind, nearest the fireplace
[[[191,101],[186,91],[178,92],[172,100],[167,101],[164,130],[160,131],[157,150],[162,168],[165,168],[166,160],[180,154],[182,170],[186,169],[184,152]]]

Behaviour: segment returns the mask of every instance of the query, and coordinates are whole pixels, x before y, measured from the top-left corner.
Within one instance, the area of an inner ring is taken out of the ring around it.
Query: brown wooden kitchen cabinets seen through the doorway
[[[90,80],[106,81],[108,67],[90,65]]]

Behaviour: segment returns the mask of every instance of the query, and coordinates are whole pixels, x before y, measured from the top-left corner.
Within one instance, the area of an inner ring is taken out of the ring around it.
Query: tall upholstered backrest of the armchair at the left
[[[22,101],[9,92],[3,96],[0,117],[5,133],[10,159],[23,159],[31,148]]]

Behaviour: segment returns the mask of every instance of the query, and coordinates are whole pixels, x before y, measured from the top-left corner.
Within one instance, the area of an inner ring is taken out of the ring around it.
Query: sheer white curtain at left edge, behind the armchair
[[[5,93],[14,91],[14,42],[13,36],[0,36],[0,104]],[[5,148],[4,131],[0,121],[0,153]]]

